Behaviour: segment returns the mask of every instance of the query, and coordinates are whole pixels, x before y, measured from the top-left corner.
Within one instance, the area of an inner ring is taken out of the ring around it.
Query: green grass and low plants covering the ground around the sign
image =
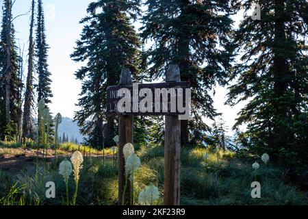
[[[75,172],[68,177],[66,190],[63,175],[66,169],[62,168],[60,174],[60,163],[65,159],[70,161],[70,151],[77,147],[63,144],[60,149],[66,153],[57,159],[34,159],[32,168],[21,168],[17,172],[10,168],[1,169],[0,164],[0,205],[116,205],[118,167],[112,156],[104,159],[102,151],[99,151],[99,156],[94,153],[84,156],[80,150],[83,162],[78,173],[76,196]],[[107,151],[105,155],[109,155]],[[164,148],[141,146],[134,154],[140,158],[140,166],[134,170],[133,203],[163,204]],[[259,164],[256,170],[253,161]],[[261,198],[251,197],[251,183],[255,179],[261,183]],[[48,181],[55,183],[55,198],[46,196]],[[149,193],[155,199],[146,199]],[[272,165],[270,160],[263,162],[261,156],[257,160],[243,160],[230,151],[181,150],[181,205],[307,204],[305,191],[285,182],[283,168]]]

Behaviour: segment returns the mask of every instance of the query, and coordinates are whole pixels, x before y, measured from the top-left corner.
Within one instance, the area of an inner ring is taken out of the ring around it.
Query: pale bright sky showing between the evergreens
[[[3,0],[1,0],[2,5]],[[75,42],[79,39],[82,25],[79,24],[81,18],[86,16],[86,8],[92,0],[44,0],[44,13],[47,42],[49,44],[49,70],[51,72],[51,89],[53,91],[52,103],[49,105],[51,112],[55,115],[58,112],[62,116],[73,118],[74,112],[78,110],[75,105],[78,102],[78,94],[81,90],[81,81],[75,79],[75,71],[81,66],[80,63],[73,62],[70,54],[73,53]],[[14,20],[16,30],[16,42],[21,47],[25,44],[25,54],[27,54],[29,44],[29,10],[31,0],[15,0],[13,6],[13,16],[18,16]],[[242,19],[240,12],[234,16],[235,26]],[[140,24],[136,24],[136,28]],[[27,57],[25,57],[25,68],[27,69]],[[26,75],[26,72],[25,72]],[[224,105],[226,101],[227,88],[216,88],[214,96],[214,107],[222,113],[222,118],[227,127],[231,128],[235,123],[237,113],[244,106],[243,103],[235,107]],[[213,123],[207,120],[207,123]]]

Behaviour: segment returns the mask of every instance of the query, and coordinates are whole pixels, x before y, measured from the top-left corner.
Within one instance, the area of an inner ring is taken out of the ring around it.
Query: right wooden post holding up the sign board
[[[181,81],[179,66],[170,65],[166,82]],[[178,116],[165,116],[164,205],[180,203],[181,122]]]

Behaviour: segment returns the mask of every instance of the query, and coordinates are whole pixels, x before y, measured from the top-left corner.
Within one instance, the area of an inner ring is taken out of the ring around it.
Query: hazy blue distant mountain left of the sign
[[[65,133],[65,136],[68,136],[68,140],[77,138],[79,143],[83,142],[85,137],[80,133],[77,122],[74,122],[71,118],[68,117],[62,118],[62,123],[60,123],[58,131],[61,138],[63,133]]]

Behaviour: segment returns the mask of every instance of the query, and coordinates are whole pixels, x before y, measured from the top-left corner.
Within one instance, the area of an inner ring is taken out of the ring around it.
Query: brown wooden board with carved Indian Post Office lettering
[[[129,90],[129,93],[124,92]],[[107,88],[107,113],[118,115],[177,116],[185,112],[186,88],[188,82],[133,83],[131,85],[109,86]],[[129,110],[119,112],[118,103],[129,96]],[[145,101],[146,97],[148,101]],[[151,104],[151,107],[148,107]]]

